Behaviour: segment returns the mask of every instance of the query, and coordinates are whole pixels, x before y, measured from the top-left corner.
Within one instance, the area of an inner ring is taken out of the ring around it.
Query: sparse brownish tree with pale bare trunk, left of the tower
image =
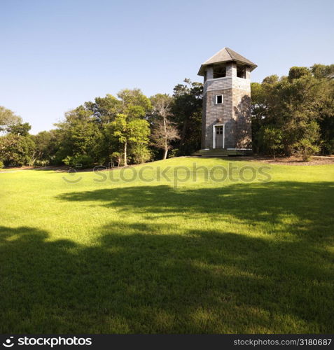
[[[168,94],[155,94],[155,96],[151,97],[151,102],[153,105],[153,131],[151,139],[155,147],[164,151],[162,159],[165,160],[169,149],[172,148],[171,141],[180,138],[175,123],[169,120],[169,117],[172,116],[170,110],[173,98]]]

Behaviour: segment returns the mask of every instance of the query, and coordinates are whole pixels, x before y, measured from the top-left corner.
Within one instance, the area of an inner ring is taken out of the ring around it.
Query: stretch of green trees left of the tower
[[[139,164],[200,148],[201,83],[185,79],[172,96],[139,89],[96,97],[65,113],[55,129],[29,134],[30,125],[1,107],[0,161],[5,166]]]

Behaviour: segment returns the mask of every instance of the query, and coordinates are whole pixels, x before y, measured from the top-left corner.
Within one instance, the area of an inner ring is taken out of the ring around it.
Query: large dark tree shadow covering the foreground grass
[[[333,276],[319,261],[280,260],[289,244],[265,239],[163,229],[113,223],[87,247],[2,227],[1,332],[333,331]]]

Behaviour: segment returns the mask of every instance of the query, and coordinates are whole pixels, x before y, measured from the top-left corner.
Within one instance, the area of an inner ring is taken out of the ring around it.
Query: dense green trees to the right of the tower
[[[330,71],[330,66],[314,65],[311,69],[295,66],[288,76],[269,76],[262,84],[251,85],[256,151],[272,153],[274,140],[268,131],[271,128],[281,132],[285,155],[303,154],[305,158],[306,153],[317,152],[320,135],[326,139],[323,149],[330,151],[330,140],[334,139],[334,85],[333,80],[325,78]]]

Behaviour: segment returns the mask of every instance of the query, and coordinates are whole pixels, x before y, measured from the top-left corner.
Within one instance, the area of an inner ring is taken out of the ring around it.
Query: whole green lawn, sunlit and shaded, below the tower
[[[193,162],[228,166],[174,158],[145,174]],[[333,332],[334,167],[268,172],[217,183],[198,170],[177,188],[0,174],[0,332]]]

